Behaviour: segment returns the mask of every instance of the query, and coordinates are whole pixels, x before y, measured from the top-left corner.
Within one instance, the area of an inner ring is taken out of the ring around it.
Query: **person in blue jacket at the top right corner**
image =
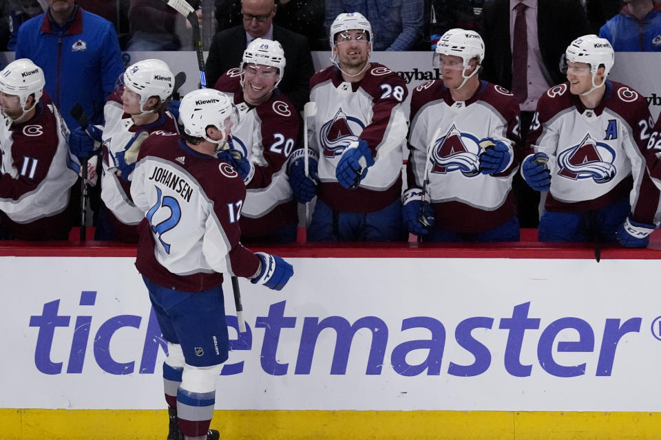
[[[599,31],[616,52],[661,52],[661,3],[625,0],[615,17]]]

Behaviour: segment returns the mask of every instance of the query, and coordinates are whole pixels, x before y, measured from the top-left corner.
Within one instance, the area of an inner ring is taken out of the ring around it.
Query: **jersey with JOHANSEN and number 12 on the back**
[[[154,283],[200,292],[222,284],[222,274],[257,272],[258,256],[239,243],[246,188],[227,162],[154,133],[140,147],[131,195],[145,217],[136,267]]]

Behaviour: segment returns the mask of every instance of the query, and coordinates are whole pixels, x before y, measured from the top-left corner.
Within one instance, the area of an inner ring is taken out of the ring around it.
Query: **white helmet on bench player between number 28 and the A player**
[[[463,60],[463,83],[457,89],[461,89],[468,81],[468,78],[479,72],[479,65],[484,60],[484,41],[480,34],[474,30],[464,30],[460,28],[450,29],[439,39],[434,54],[434,67],[440,65],[439,57],[441,55],[459,56]],[[472,74],[465,76],[466,70],[470,69],[470,61],[476,59],[478,67]]]

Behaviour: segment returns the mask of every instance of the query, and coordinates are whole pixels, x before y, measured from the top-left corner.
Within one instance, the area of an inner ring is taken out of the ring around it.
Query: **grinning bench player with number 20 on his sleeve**
[[[232,129],[232,145],[248,159],[233,162],[244,174],[248,190],[241,208],[243,243],[296,240],[297,206],[286,162],[295,146],[299,118],[277,89],[285,64],[280,43],[255,39],[246,47],[241,67],[230,69],[214,87],[228,94],[240,113]]]

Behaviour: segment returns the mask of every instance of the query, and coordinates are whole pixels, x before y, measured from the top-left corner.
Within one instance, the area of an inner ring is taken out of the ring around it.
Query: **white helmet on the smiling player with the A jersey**
[[[567,72],[567,61],[573,63],[587,63],[590,65],[590,73],[592,74],[592,87],[589,91],[581,95],[587,95],[594,89],[598,89],[606,84],[606,77],[613,64],[615,64],[615,51],[613,46],[607,39],[600,39],[595,34],[589,34],[578,37],[572,41],[567,50],[563,60],[560,61],[560,69]],[[599,66],[604,66],[604,80],[600,85],[596,85],[594,78],[597,74]]]

